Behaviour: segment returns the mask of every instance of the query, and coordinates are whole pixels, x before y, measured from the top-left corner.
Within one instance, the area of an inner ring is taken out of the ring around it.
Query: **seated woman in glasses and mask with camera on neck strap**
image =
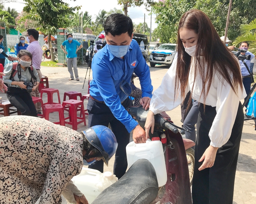
[[[20,110],[22,115],[36,116],[36,107],[30,92],[38,87],[40,80],[35,67],[32,71],[31,59],[32,54],[29,51],[20,50],[18,53],[19,62],[15,69],[17,72],[14,72],[14,64],[7,64],[4,67],[5,76],[3,76],[3,79],[9,85],[6,95],[10,103]],[[35,86],[29,83],[33,80],[36,81]]]

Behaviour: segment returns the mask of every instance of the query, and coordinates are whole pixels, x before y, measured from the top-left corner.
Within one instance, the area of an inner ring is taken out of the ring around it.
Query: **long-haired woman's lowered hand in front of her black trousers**
[[[199,162],[203,161],[203,164],[201,165],[201,167],[199,167],[199,171],[205,169],[205,168],[211,168],[214,164],[214,161],[215,161],[215,157],[216,157],[216,153],[217,153],[217,150],[219,148],[218,147],[213,147],[213,146],[209,146],[203,156],[201,157],[201,159],[199,160]]]

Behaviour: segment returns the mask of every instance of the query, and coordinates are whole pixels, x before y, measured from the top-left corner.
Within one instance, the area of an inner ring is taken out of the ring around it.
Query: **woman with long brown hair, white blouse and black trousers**
[[[220,40],[208,16],[190,10],[180,19],[178,56],[155,90],[145,124],[179,106],[188,91],[199,102],[193,204],[232,204],[245,98],[239,62]]]

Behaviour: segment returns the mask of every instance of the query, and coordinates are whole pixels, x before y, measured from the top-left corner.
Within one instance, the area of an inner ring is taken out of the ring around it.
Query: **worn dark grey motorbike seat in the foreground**
[[[137,160],[116,183],[103,190],[92,204],[149,204],[158,194],[153,165]]]

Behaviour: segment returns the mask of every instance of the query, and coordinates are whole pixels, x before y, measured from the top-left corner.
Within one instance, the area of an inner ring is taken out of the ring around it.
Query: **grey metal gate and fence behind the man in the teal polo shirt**
[[[83,48],[77,51],[77,64],[78,65],[82,65],[85,61],[85,53],[86,50],[88,49],[88,44],[90,40],[94,40],[96,38],[95,35],[89,35],[89,34],[84,34],[84,33],[80,33],[80,32],[76,32],[80,31],[80,28],[73,28],[72,30],[65,30],[65,40],[68,39],[68,33],[73,35],[73,40],[78,41],[79,43],[81,43],[83,45]],[[67,56],[65,55],[65,58],[67,58]],[[66,59],[67,61],[67,59]]]

